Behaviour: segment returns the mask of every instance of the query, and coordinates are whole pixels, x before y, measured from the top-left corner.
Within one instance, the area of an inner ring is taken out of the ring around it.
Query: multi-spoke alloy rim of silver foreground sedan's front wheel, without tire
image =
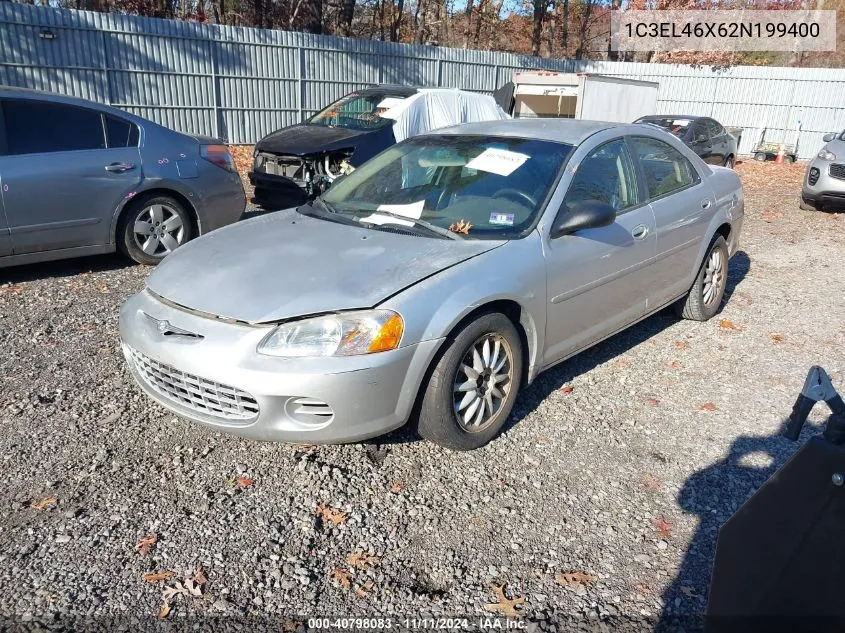
[[[495,333],[467,350],[453,388],[455,417],[463,430],[483,431],[502,408],[513,383],[512,355],[508,342]]]

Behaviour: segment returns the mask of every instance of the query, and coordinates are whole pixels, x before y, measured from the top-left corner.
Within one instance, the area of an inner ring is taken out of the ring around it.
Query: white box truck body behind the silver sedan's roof
[[[514,118],[554,117],[630,123],[657,112],[659,84],[608,75],[517,71],[494,93]]]

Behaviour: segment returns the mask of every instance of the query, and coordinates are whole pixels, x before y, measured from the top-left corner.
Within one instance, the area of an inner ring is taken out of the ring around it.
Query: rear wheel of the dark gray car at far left
[[[194,237],[191,216],[170,196],[141,198],[130,203],[118,227],[120,251],[147,266],[155,266]]]

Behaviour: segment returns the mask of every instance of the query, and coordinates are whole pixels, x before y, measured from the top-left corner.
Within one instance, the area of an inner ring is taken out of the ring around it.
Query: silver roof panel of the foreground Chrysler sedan
[[[468,134],[481,136],[515,136],[568,145],[580,145],[596,132],[615,127],[627,127],[625,123],[608,121],[587,121],[584,119],[505,119],[452,125],[429,134]]]

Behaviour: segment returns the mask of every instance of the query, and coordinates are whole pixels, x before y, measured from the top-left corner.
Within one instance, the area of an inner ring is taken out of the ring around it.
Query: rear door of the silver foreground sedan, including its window
[[[696,258],[714,199],[710,187],[679,150],[647,136],[631,137],[631,145],[657,231],[649,295],[652,310],[689,290],[689,277],[698,265]]]

